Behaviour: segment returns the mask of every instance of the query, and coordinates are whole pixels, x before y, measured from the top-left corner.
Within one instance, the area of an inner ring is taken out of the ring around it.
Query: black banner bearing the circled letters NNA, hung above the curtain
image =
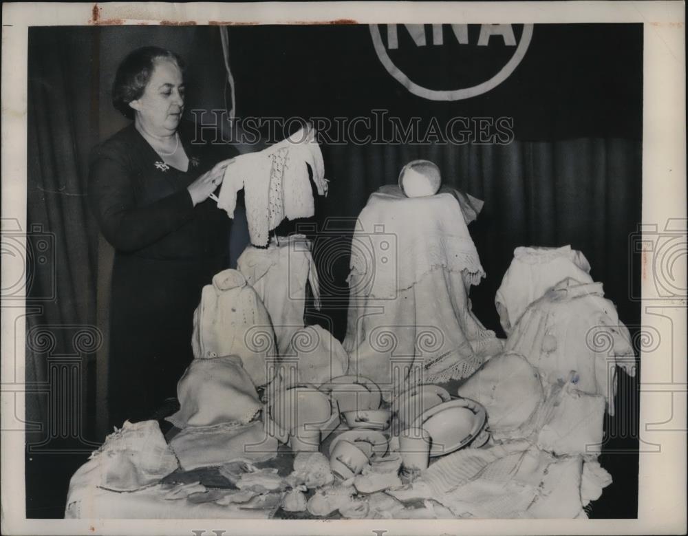
[[[290,118],[330,143],[642,136],[641,24],[233,26],[228,50],[249,136]]]

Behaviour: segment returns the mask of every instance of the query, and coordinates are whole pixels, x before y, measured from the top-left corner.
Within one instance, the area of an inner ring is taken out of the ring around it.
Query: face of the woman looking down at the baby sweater
[[[177,63],[158,59],[140,98],[129,103],[136,119],[152,134],[169,135],[177,130],[184,111],[184,78]]]

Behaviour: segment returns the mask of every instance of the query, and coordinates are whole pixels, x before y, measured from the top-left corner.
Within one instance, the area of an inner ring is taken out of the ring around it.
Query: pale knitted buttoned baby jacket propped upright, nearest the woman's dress
[[[238,270],[223,270],[204,286],[191,345],[197,359],[239,356],[255,387],[272,379],[268,362],[276,348],[270,315]]]

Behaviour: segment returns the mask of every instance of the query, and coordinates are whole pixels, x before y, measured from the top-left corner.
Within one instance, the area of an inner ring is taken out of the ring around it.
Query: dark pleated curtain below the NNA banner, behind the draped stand
[[[593,278],[604,283],[621,319],[638,323],[639,308],[628,301],[628,237],[641,219],[641,142],[580,138],[502,146],[346,145],[326,147],[324,155],[331,182],[328,197],[319,200],[316,210],[321,229],[327,218],[344,219],[334,224],[352,229],[351,219],[368,195],[383,184],[396,184],[403,164],[416,158],[436,162],[444,184],[485,201],[469,229],[487,272],[471,290],[471,299],[488,328],[501,332],[495,293],[513,250],[524,245],[570,244],[583,251]],[[334,256],[331,278],[328,267],[319,266],[330,294],[345,292],[346,246],[343,238],[341,247],[334,248],[343,255]],[[326,258],[315,253],[321,262],[333,259],[331,253]],[[343,338],[345,323],[345,317],[334,322],[338,338]]]

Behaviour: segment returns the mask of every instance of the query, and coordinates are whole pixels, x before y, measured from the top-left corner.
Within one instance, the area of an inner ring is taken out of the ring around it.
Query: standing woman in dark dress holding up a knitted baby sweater
[[[230,160],[217,163],[212,147],[191,144],[194,126],[182,121],[183,68],[169,50],[131,52],[117,70],[112,101],[133,122],[92,153],[89,202],[115,248],[110,426],[151,418],[175,396],[193,358],[201,289],[228,267],[229,219],[208,196]]]

